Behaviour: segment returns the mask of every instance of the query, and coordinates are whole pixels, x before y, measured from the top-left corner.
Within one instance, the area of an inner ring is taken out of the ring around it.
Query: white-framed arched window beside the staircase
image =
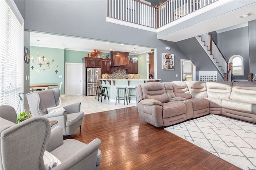
[[[244,75],[244,59],[241,55],[233,55],[229,62],[233,63],[233,75]]]

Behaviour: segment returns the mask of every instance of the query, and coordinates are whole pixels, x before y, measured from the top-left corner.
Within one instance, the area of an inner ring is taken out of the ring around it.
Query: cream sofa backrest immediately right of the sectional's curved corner
[[[232,83],[230,81],[207,81],[207,97],[229,99]]]

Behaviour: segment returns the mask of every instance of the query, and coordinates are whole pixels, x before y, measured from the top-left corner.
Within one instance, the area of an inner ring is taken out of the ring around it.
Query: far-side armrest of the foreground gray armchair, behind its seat
[[[52,150],[58,148],[63,144],[63,133],[62,133],[62,127],[57,126],[51,130],[51,136],[50,140],[48,142],[48,145],[46,147],[46,150],[48,152],[52,152]]]

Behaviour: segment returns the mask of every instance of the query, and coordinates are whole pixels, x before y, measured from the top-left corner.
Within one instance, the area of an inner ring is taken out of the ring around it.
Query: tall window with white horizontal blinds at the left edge
[[[0,105],[17,109],[23,92],[24,29],[13,4],[0,0]]]

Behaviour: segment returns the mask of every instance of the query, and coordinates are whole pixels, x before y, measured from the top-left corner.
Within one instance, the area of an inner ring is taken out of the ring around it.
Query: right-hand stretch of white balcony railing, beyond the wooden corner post
[[[162,27],[217,0],[168,0],[158,7],[158,24]]]

